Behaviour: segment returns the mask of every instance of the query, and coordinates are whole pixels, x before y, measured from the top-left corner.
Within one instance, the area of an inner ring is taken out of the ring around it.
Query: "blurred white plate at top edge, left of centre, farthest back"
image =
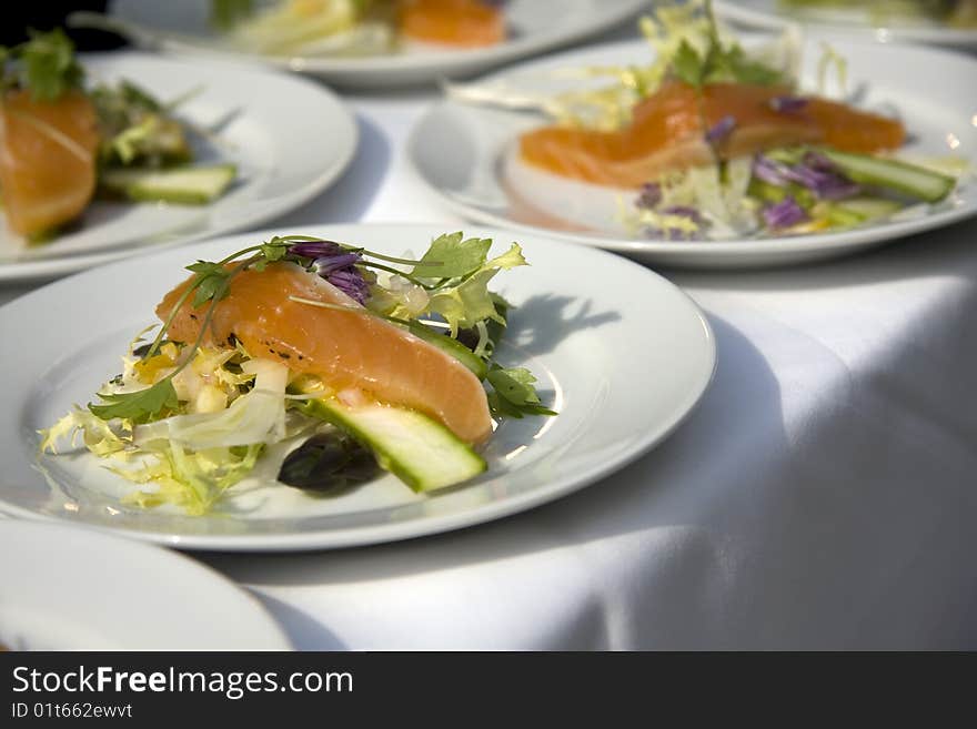
[[[471,50],[415,48],[360,58],[270,57],[232,50],[210,31],[207,0],[115,0],[109,13],[115,30],[147,48],[256,60],[345,87],[375,88],[480,73],[602,33],[635,17],[646,4],[646,0],[510,0],[505,18],[511,38],[497,45]]]

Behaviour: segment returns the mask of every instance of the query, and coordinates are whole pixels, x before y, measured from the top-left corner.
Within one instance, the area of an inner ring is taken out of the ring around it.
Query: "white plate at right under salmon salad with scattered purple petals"
[[[907,152],[958,154],[977,161],[977,60],[935,49],[834,43],[848,61],[849,91],[864,108],[898,113],[913,142]],[[815,87],[817,39],[805,45],[804,78]],[[649,58],[643,42],[567,52],[495,73],[476,83],[552,92],[566,88],[554,69],[627,64]],[[898,68],[899,73],[893,73]],[[664,265],[758,266],[826,259],[892,239],[947,225],[977,213],[977,185],[964,185],[915,220],[845,232],[709,242],[636,240],[620,222],[620,205],[633,191],[566,180],[521,162],[521,132],[546,123],[532,112],[488,109],[445,100],[419,122],[407,156],[420,180],[450,207],[483,223],[595,245]]]

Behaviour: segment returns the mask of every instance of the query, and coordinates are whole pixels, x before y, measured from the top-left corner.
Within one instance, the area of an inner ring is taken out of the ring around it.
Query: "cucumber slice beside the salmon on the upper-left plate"
[[[139,202],[205,205],[224,193],[238,174],[233,164],[169,170],[105,170],[99,183]]]

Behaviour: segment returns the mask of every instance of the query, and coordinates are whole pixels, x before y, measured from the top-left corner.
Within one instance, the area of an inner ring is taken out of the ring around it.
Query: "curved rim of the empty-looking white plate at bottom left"
[[[27,535],[27,538],[36,538],[34,535],[40,535],[42,539],[46,539],[51,538],[52,534],[58,534],[60,538],[70,541],[72,545],[78,545],[79,541],[88,543],[100,553],[105,553],[110,559],[112,555],[118,554],[117,550],[124,547],[128,558],[131,558],[133,553],[137,553],[137,555],[141,554],[145,558],[147,564],[151,566],[162,564],[168,576],[171,575],[172,570],[177,570],[180,574],[192,573],[203,578],[204,584],[212,586],[215,591],[219,590],[221,593],[223,603],[226,604],[231,599],[235,601],[235,615],[241,615],[242,611],[246,610],[249,622],[251,624],[248,626],[249,630],[253,631],[256,627],[260,627],[262,630],[260,642],[252,641],[249,644],[248,636],[241,636],[241,646],[231,647],[215,644],[208,647],[208,650],[254,650],[249,645],[260,645],[261,650],[294,650],[294,646],[282,624],[274,618],[256,595],[223,573],[179,550],[165,549],[144,540],[133,539],[128,534],[119,535],[118,531],[98,529],[84,523],[68,523],[57,519],[6,519],[0,517],[0,533],[9,535],[11,530],[14,533],[22,531]],[[3,538],[7,537],[4,536]],[[23,537],[14,534],[13,538]],[[71,554],[70,550],[69,554]],[[215,596],[211,595],[211,597]],[[249,635],[253,635],[253,632],[249,632]],[[90,646],[85,649],[91,650],[97,649],[97,647]],[[159,650],[160,648],[145,648],[144,645],[133,645],[124,646],[121,649]],[[179,648],[168,648],[168,650],[174,649]]]

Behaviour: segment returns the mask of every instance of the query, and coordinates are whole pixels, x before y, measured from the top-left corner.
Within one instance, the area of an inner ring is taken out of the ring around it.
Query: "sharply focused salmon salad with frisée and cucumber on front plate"
[[[122,372],[41,433],[80,438],[133,486],[124,500],[211,509],[259,463],[339,494],[386,469],[420,493],[485,470],[504,417],[554,415],[522,367],[496,361],[510,304],[488,285],[518,244],[441,235],[419,259],[272,237],[192,275],[157,307]]]

